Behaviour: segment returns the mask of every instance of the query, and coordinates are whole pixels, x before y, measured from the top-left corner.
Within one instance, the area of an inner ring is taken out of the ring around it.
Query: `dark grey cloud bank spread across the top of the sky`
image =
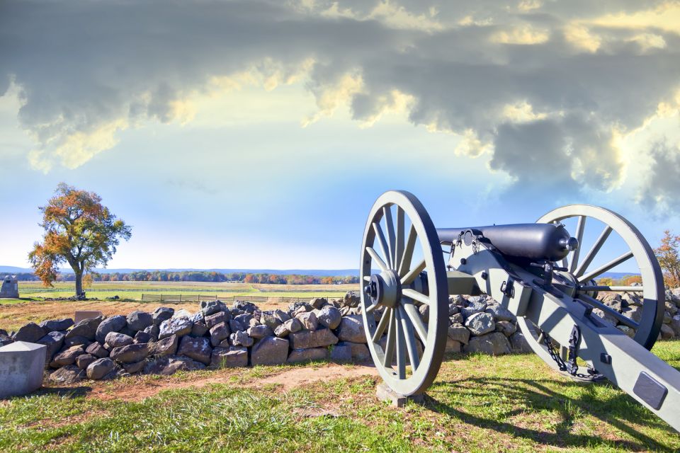
[[[356,120],[403,93],[414,124],[472,131],[489,144],[489,166],[518,183],[539,175],[562,190],[608,190],[624,168],[613,127],[639,127],[679,88],[676,33],[588,22],[637,1],[334,3],[5,1],[0,93],[10,80],[20,88],[36,159],[77,166],[116,130],[173,120],[177,101],[212,77],[295,74],[311,60],[319,108],[351,74]]]

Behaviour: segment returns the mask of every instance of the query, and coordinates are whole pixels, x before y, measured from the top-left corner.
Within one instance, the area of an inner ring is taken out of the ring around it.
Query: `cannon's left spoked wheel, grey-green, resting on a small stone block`
[[[422,256],[412,263],[418,243]],[[372,275],[372,264],[378,274]],[[363,326],[375,367],[395,393],[421,394],[434,381],[446,348],[448,284],[436,229],[414,195],[392,190],[378,197],[363,233],[360,267],[366,285],[361,292]],[[393,296],[385,304],[370,294],[371,282],[378,278],[381,291]],[[429,306],[427,323],[419,312],[422,304]],[[382,316],[376,325],[378,307]]]

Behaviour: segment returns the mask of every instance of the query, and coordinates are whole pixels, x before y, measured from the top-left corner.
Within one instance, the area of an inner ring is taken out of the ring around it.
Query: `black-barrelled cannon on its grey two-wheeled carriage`
[[[587,235],[591,224],[598,229]],[[593,243],[582,248],[586,237]],[[603,262],[599,254],[612,250],[616,258]],[[640,282],[596,282],[629,260]],[[615,212],[569,205],[535,224],[436,229],[414,195],[391,190],[368,214],[360,275],[370,355],[397,395],[423,394],[436,378],[449,297],[487,294],[516,316],[548,366],[586,382],[608,379],[680,430],[680,372],[650,352],[664,316],[662,272],[640,231]],[[635,315],[605,304],[602,293],[632,296]]]

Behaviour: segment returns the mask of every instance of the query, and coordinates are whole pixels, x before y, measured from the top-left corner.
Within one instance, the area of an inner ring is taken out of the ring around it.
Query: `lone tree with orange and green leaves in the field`
[[[76,295],[83,294],[83,274],[97,265],[106,266],[120,239],[127,241],[132,229],[111,214],[94,192],[60,183],[55,196],[39,207],[45,234],[28,253],[35,275],[52,286],[58,266],[69,263],[76,281]]]

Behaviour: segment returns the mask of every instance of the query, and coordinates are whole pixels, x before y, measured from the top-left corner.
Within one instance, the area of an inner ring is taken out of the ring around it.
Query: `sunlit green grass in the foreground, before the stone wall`
[[[659,343],[655,352],[680,366],[680,341]],[[0,402],[0,451],[680,450],[680,435],[623,392],[609,384],[572,382],[534,355],[453,355],[424,404],[398,409],[375,399],[371,377],[288,392],[241,386],[285,369],[241,369],[227,384],[162,391],[140,402],[88,397],[87,382],[13,398]],[[178,378],[129,378],[131,389],[137,379]]]

